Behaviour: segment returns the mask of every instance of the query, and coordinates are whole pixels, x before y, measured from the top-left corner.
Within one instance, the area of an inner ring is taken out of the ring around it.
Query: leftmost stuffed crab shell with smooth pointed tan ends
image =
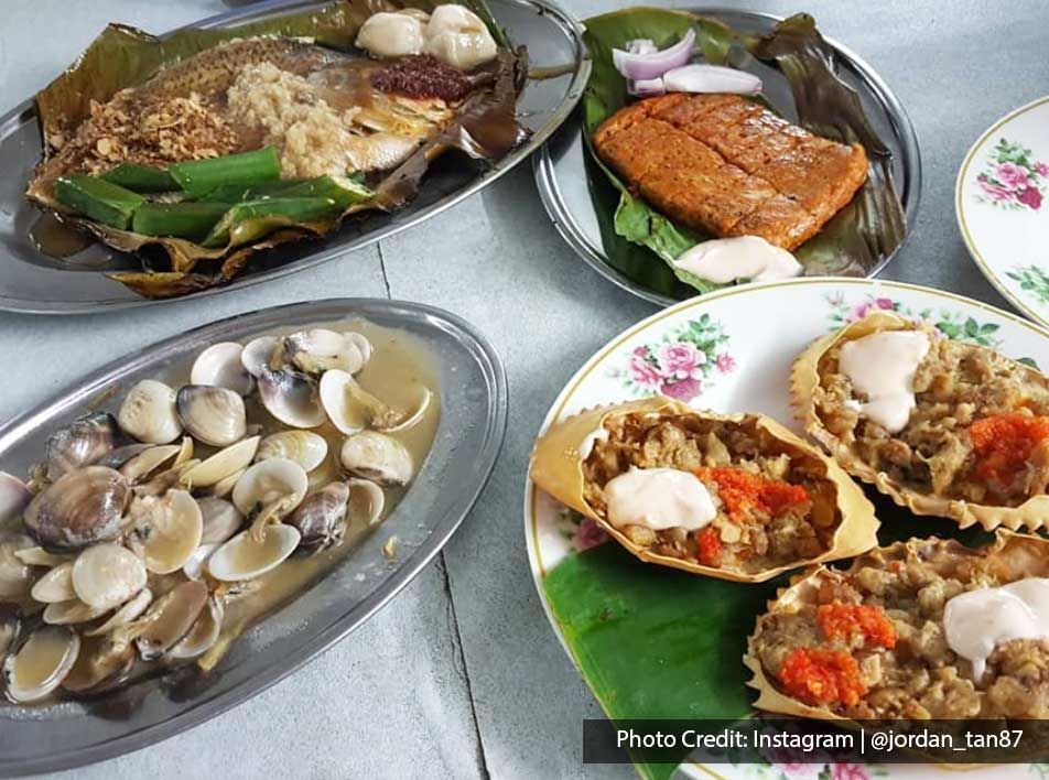
[[[774,420],[652,398],[550,427],[532,453],[545,492],[644,561],[761,582],[873,548],[861,488]]]

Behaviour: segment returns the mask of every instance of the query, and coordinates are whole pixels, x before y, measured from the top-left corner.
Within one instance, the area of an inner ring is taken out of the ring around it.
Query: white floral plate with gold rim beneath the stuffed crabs
[[[718,411],[759,411],[793,424],[787,377],[794,357],[814,338],[872,308],[933,324],[944,338],[999,349],[1049,366],[1049,331],[1002,310],[951,293],[897,282],[799,279],[728,288],[658,312],[613,338],[569,381],[543,422],[596,404],[657,392]],[[797,426],[796,426],[797,427]],[[554,632],[561,629],[545,602],[542,578],[565,556],[602,543],[590,521],[573,524],[549,496],[524,490],[524,537],[536,587]],[[571,656],[571,652],[570,652]],[[934,767],[895,765],[686,763],[695,778],[865,780],[868,777],[955,777]],[[1045,765],[997,767],[999,780],[1042,778]]]

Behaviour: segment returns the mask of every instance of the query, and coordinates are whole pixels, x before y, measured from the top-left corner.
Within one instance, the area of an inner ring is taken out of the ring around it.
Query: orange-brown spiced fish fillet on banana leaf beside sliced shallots
[[[619,110],[594,147],[660,212],[715,236],[793,249],[867,177],[867,155],[738,95],[675,93]]]

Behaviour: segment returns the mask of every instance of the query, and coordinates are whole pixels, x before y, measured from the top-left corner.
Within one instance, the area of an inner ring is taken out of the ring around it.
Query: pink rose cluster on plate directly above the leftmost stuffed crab
[[[664,334],[660,342],[634,347],[625,365],[610,375],[634,396],[663,394],[689,402],[735,370],[736,359],[727,346],[721,323],[704,314]]]

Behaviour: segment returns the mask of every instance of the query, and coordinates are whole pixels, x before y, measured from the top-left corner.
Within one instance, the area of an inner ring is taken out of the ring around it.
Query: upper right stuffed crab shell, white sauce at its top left
[[[878,312],[802,353],[791,399],[850,474],[917,514],[1049,519],[1049,384],[993,349]]]

